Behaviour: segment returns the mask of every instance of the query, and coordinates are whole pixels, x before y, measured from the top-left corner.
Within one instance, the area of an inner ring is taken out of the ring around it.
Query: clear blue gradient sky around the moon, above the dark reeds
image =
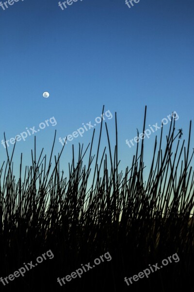
[[[10,139],[54,117],[56,126],[41,129],[36,139],[48,154],[56,129],[57,154],[59,137],[82,123],[94,125],[103,105],[117,112],[123,166],[135,152],[126,139],[136,136],[136,128],[141,132],[145,105],[146,128],[175,110],[187,138],[194,120],[193,0],[140,0],[131,8],[125,0],[78,0],[64,10],[57,0],[7,6],[0,7],[0,141],[4,131]],[[114,142],[114,119],[106,121]],[[147,158],[155,134],[145,139]],[[20,152],[30,162],[33,136],[16,144],[16,162]],[[68,141],[66,153],[91,137],[92,129]],[[0,144],[0,164],[4,155]]]

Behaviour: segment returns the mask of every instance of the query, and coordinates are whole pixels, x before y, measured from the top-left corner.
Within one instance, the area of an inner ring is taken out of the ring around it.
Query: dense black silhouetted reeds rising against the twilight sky
[[[167,136],[163,137],[161,129],[160,137],[150,147],[153,161],[146,182],[146,141],[137,144],[132,165],[119,172],[116,115],[115,146],[110,143],[105,124],[108,147],[101,152],[102,127],[96,155],[92,154],[93,134],[89,146],[79,147],[77,160],[73,148],[72,163],[65,172],[60,163],[62,152],[53,157],[54,143],[49,159],[43,157],[43,151],[37,157],[34,146],[32,166],[26,167],[23,177],[21,156],[16,182],[14,152],[7,152],[7,162],[0,166],[0,277],[13,274],[24,267],[24,262],[34,262],[48,250],[54,258],[5,286],[0,282],[0,291],[193,291],[191,124],[186,142],[180,139],[182,132],[175,129],[175,120]],[[71,274],[81,264],[93,263],[106,252],[112,256],[111,261],[100,263],[62,287],[57,282],[58,277]],[[130,286],[124,282],[125,277],[175,253],[180,259],[177,263],[173,261]]]

